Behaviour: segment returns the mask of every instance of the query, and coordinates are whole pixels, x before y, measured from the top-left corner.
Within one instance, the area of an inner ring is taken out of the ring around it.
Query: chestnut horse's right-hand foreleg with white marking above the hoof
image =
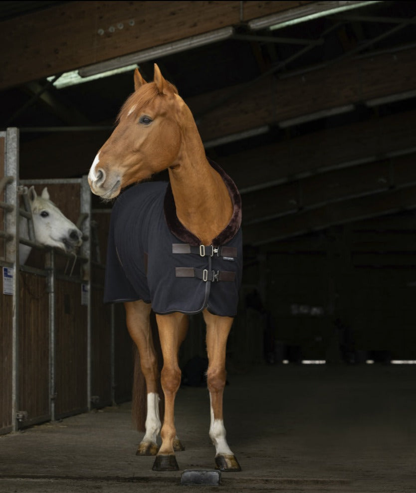
[[[218,317],[204,311],[207,324],[207,382],[211,404],[209,437],[215,446],[215,465],[220,471],[241,471],[226,441],[222,413],[222,397],[226,381],[225,350],[232,318]]]

